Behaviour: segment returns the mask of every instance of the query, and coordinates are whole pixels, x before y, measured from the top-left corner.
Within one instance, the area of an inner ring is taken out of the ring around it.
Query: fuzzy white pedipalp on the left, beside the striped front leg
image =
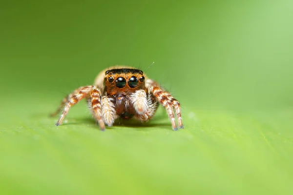
[[[115,120],[115,105],[111,101],[110,98],[106,96],[102,97],[102,115],[104,122],[110,127],[114,123]]]

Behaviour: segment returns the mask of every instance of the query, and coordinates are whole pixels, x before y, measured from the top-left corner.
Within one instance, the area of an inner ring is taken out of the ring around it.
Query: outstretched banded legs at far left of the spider
[[[84,86],[84,87],[80,87],[79,89],[75,90],[72,94],[69,94],[67,101],[65,103],[63,103],[65,106],[64,106],[62,115],[60,116],[56,125],[57,126],[61,125],[64,120],[64,117],[68,114],[69,109],[72,106],[74,106],[75,104],[77,104],[84,97],[86,97],[94,88],[95,88],[95,86],[93,86],[93,85]],[[60,107],[63,107],[63,105],[61,104]]]

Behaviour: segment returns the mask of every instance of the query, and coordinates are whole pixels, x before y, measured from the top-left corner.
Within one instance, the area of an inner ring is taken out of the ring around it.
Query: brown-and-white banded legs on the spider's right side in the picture
[[[184,126],[182,123],[180,103],[175,98],[173,98],[168,92],[162,91],[159,87],[152,86],[150,87],[150,89],[152,94],[158,100],[158,102],[160,102],[167,110],[168,116],[172,123],[173,130],[178,130],[175,123],[175,117],[173,113],[174,110],[177,115],[178,126],[180,129],[183,129]]]

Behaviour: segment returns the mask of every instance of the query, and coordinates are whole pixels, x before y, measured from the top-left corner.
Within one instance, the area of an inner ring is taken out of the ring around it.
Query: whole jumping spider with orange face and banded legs
[[[178,130],[178,127],[183,129],[179,102],[161,89],[157,82],[147,78],[143,71],[132,67],[105,69],[97,76],[94,85],[80,87],[63,98],[57,111],[52,114],[56,116],[63,109],[56,125],[61,125],[69,109],[84,98],[101,130],[105,130],[105,124],[112,126],[118,117],[148,121],[159,104],[166,109],[173,130]]]

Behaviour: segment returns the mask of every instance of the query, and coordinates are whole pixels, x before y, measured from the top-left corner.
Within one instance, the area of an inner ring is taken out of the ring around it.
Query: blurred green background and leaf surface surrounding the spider
[[[1,1],[1,194],[292,194],[293,1]],[[100,132],[61,99],[104,68],[182,104]]]

